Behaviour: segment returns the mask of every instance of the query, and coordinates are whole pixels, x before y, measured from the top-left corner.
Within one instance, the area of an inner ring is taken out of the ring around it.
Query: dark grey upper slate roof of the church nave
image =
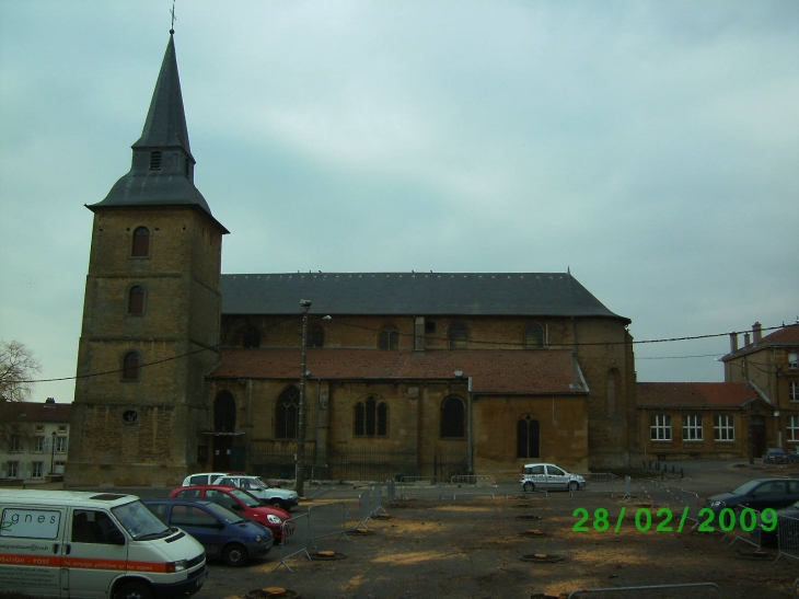
[[[223,314],[614,314],[568,273],[287,273],[222,275]]]

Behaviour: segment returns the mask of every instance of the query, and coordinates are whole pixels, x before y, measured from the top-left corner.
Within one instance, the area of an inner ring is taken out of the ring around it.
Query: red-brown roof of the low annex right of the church
[[[638,407],[740,407],[757,398],[744,382],[639,382]]]

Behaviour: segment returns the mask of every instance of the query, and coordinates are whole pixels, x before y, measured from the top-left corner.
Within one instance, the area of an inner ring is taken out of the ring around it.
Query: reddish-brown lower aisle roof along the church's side
[[[300,349],[225,349],[222,364],[208,379],[298,381]],[[473,392],[484,394],[584,394],[571,388],[571,350],[436,350],[426,354],[379,349],[313,348],[308,350],[312,379],[456,380],[472,377]]]

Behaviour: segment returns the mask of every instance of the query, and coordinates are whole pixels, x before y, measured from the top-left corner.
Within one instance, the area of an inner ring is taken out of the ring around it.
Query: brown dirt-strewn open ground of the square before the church
[[[357,500],[343,500],[348,515]],[[314,504],[325,503],[324,499]],[[640,499],[611,499],[567,493],[408,499],[386,505],[390,518],[368,522],[369,534],[349,534],[316,542],[334,551],[334,561],[298,555],[280,567],[280,549],[243,568],[211,563],[197,599],[243,598],[253,589],[282,587],[303,599],[530,599],[566,597],[580,588],[715,583],[721,597],[787,598],[799,577],[799,562],[754,560],[754,548],[731,546],[720,534],[639,532],[635,512]],[[610,526],[594,530],[597,508],[609,511]],[[614,532],[622,507],[626,515]],[[574,530],[576,508],[591,518],[587,532]],[[644,508],[646,509],[646,508]],[[298,514],[303,510],[300,508]],[[531,518],[532,517],[532,518]],[[679,526],[679,515],[672,522]],[[355,522],[354,522],[355,523]],[[537,531],[537,533],[536,533]],[[543,533],[543,534],[539,534]],[[310,550],[315,556],[315,550]],[[536,557],[544,555],[546,557]],[[560,561],[546,563],[557,556]],[[544,563],[528,560],[543,560]],[[711,589],[601,594],[598,597],[716,597]]]

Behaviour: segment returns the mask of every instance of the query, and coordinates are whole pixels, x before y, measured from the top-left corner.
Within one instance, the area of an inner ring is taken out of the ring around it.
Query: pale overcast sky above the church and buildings
[[[74,375],[169,0],[0,0],[0,338]],[[177,0],[223,273],[555,272],[636,341],[799,315],[799,2]],[[720,381],[727,336],[636,345]],[[71,401],[72,381],[35,398]]]

